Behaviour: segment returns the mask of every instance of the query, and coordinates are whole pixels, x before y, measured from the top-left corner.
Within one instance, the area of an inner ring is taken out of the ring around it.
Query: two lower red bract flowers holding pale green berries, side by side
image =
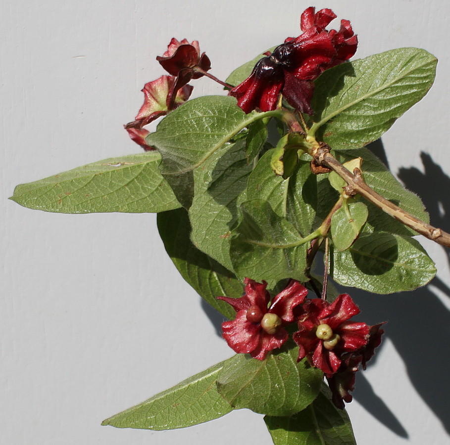
[[[246,278],[245,284],[241,298],[218,297],[236,311],[233,321],[222,324],[228,345],[237,353],[263,360],[288,339],[284,327],[297,322],[299,330],[293,339],[299,345],[298,361],[306,357],[325,373],[336,406],[342,408],[344,401],[351,401],[354,373],[359,364],[365,368],[380,344],[383,323],[349,322],[359,309],[348,294],[339,295],[331,304],[320,298],[305,300],[307,289],[291,280],[268,307],[267,283]]]

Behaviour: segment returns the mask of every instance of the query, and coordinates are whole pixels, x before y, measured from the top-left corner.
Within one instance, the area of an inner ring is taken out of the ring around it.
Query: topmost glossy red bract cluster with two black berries
[[[357,37],[350,22],[341,20],[339,31],[325,29],[336,18],[331,9],[307,8],[301,14],[297,38],[287,38],[272,54],[263,57],[242,84],[230,90],[246,112],[255,108],[275,110],[280,93],[295,109],[312,114],[313,80],[327,68],[349,60],[356,51]]]

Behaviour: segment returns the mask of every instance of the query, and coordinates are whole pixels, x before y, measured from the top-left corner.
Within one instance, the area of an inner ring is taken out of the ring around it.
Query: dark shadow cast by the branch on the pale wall
[[[388,164],[380,139],[368,148],[384,164]],[[422,153],[421,159],[425,173],[416,168],[400,169],[398,176],[406,188],[422,198],[431,223],[450,231],[450,178],[429,154]],[[450,263],[450,252],[447,251],[447,254]],[[439,278],[433,280],[433,285],[450,298],[450,288]],[[379,295],[377,298],[368,292],[353,289],[351,296],[361,309],[363,321],[369,324],[389,321],[385,327],[386,335],[402,357],[411,383],[450,434],[450,385],[446,384],[450,368],[450,355],[446,354],[450,338],[450,312],[427,287],[413,292]],[[217,335],[221,336],[224,317],[203,300],[201,306]],[[370,314],[370,319],[367,314]],[[356,375],[354,398],[395,434],[408,437],[398,418],[376,395],[363,372]]]

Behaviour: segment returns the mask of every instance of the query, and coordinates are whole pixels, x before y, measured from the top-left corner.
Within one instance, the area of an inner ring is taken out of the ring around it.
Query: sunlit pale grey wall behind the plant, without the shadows
[[[262,416],[247,410],[186,430],[100,427],[104,418],[231,356],[217,335],[220,318],[210,320],[178,275],[154,215],[56,215],[6,198],[18,183],[139,152],[122,125],[142,104],[144,84],[164,74],[155,56],[172,37],[199,40],[211,73],[224,79],[261,50],[300,34],[300,13],[309,5],[1,3],[1,444],[271,444]],[[316,6],[351,20],[360,42],[356,57],[417,46],[439,58],[434,87],[383,144],[393,171],[406,169],[408,185],[429,193],[432,223],[449,230],[450,2]],[[220,91],[201,79],[193,97]],[[435,167],[421,175],[421,151],[444,173]],[[449,428],[448,257],[424,244],[438,265],[435,286],[394,296],[352,292],[369,323],[390,320],[348,408],[358,444],[450,443],[442,424]]]

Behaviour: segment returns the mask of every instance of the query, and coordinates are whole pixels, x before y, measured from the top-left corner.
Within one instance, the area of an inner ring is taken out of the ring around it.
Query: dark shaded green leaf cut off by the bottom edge
[[[264,421],[275,445],[356,445],[349,415],[334,406],[325,383],[317,398],[299,413],[265,416]]]

